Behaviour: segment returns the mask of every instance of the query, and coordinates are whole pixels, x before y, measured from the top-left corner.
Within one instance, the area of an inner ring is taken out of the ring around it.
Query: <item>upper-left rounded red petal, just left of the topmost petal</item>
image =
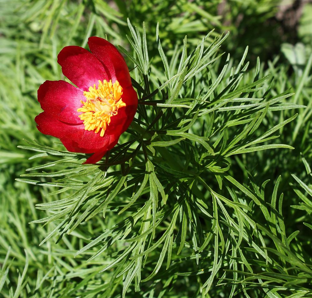
[[[103,64],[82,47],[64,47],[57,56],[63,74],[84,91],[98,85],[98,80],[110,80]]]

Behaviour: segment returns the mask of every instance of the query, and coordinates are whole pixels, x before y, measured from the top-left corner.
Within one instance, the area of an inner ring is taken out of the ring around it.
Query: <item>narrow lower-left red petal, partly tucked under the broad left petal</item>
[[[36,116],[37,128],[40,132],[53,137],[61,138],[67,134],[75,133],[84,128],[84,125],[69,125],[57,120],[48,112],[42,112]]]

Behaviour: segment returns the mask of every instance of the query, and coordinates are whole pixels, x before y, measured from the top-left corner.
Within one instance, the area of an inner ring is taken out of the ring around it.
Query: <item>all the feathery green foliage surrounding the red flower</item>
[[[312,297],[308,51],[249,67],[240,41],[232,58],[239,33],[219,34],[219,1],[3,3],[4,297]],[[227,15],[268,18],[274,4],[235,1]],[[36,91],[62,76],[63,46],[105,34],[139,107],[84,165],[37,132]]]

